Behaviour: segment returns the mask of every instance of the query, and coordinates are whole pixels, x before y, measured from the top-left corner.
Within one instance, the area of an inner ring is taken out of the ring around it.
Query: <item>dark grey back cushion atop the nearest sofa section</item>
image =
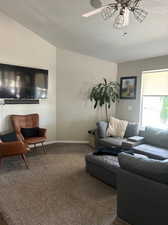
[[[124,170],[168,184],[168,160],[155,160],[126,153],[121,153],[118,160]]]

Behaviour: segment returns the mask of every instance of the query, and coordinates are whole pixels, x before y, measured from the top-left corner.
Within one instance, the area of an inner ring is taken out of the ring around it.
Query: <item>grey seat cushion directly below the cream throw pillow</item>
[[[121,147],[122,146],[122,142],[125,139],[123,138],[116,138],[116,137],[106,137],[106,138],[102,138],[99,140],[100,145],[103,146],[107,146],[107,147],[112,147],[112,146],[116,146],[116,147]]]

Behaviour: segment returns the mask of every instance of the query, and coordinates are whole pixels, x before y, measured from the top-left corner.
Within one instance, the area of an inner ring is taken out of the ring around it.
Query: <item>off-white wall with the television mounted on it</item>
[[[16,6],[17,7],[17,6]],[[40,105],[0,106],[0,132],[10,129],[8,115],[39,113],[48,139],[56,139],[56,48],[0,13],[0,63],[49,70],[48,100]]]

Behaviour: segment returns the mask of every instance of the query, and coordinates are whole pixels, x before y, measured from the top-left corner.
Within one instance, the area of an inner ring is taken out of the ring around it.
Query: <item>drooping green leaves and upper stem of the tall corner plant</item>
[[[97,84],[91,89],[89,99],[94,101],[94,109],[97,107],[105,107],[106,120],[108,121],[108,110],[111,109],[113,103],[119,101],[120,85],[116,81],[108,82],[105,78],[104,82]]]

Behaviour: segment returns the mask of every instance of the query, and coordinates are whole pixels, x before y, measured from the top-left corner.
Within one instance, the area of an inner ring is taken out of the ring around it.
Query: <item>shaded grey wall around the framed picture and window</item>
[[[168,56],[130,61],[118,64],[118,80],[123,76],[137,76],[136,100],[120,100],[116,108],[116,117],[139,122],[141,77],[143,71],[168,69]]]

